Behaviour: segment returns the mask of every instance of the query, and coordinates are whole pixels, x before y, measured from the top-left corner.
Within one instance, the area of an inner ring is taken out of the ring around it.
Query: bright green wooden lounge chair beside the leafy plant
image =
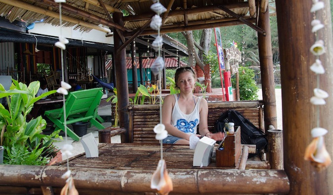
[[[96,120],[96,118],[100,119],[97,111],[103,95],[102,89],[103,88],[93,88],[71,92],[66,98],[65,103],[66,123],[73,124],[75,122],[89,121],[91,125],[96,126],[98,129],[104,129],[105,127]],[[65,129],[63,108],[45,111],[44,115],[54,123],[54,125],[56,126],[55,130]],[[75,141],[78,141],[80,139],[68,127],[67,134]]]

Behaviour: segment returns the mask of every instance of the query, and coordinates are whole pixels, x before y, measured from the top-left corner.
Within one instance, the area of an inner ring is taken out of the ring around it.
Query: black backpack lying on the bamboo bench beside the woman
[[[257,128],[254,124],[250,122],[249,119],[245,118],[242,114],[235,110],[228,110],[219,117],[219,119],[214,124],[215,132],[223,132],[224,123],[233,122],[235,126],[241,127],[241,143],[251,144],[257,146],[257,154],[260,150],[267,147],[266,135]],[[236,130],[236,127],[235,127]],[[256,154],[255,154],[256,155]],[[249,154],[249,157],[255,156]]]

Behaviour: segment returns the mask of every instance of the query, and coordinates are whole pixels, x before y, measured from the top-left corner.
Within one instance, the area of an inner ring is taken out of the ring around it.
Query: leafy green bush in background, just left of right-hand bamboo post
[[[240,100],[258,100],[259,88],[254,80],[254,70],[247,67],[239,67],[239,98]],[[236,86],[236,79],[231,78],[231,83]]]

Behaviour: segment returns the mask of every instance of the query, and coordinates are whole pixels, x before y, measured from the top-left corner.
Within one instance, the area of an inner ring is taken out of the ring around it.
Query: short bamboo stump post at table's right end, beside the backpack
[[[271,169],[283,169],[283,133],[282,130],[268,131],[268,161]]]

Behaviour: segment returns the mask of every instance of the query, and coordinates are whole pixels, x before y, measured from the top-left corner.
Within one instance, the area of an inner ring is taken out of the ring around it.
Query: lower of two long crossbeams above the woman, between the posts
[[[248,22],[256,22],[255,18],[249,18],[245,19]],[[213,20],[214,21],[214,20]],[[234,25],[240,25],[243,24],[243,22],[238,20],[233,21],[226,21],[226,22],[213,22],[212,23],[201,23],[199,25],[189,25],[187,27],[181,26],[181,27],[171,27],[171,28],[162,28],[161,34],[165,33],[174,33],[174,32],[183,32],[183,31],[194,31],[194,30],[201,30],[201,29],[209,29],[209,28],[216,28],[216,27],[222,27],[222,26],[234,26]],[[140,35],[155,35],[157,32],[155,30],[147,30],[142,32]],[[133,32],[128,32],[123,34],[125,37],[130,37],[133,35]]]

